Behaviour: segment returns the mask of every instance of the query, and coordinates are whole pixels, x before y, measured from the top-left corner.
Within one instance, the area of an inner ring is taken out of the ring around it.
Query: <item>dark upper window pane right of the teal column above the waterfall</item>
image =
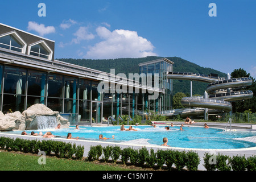
[[[48,76],[48,97],[63,97],[63,76],[55,74]]]

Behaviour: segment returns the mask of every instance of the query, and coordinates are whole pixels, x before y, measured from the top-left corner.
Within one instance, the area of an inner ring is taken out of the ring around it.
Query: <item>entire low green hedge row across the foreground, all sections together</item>
[[[84,146],[76,146],[76,144],[56,140],[41,141],[0,137],[0,148],[7,151],[22,151],[32,154],[44,151],[46,155],[68,159],[82,159],[84,155]],[[119,146],[90,146],[88,160],[98,160],[101,156],[105,162],[108,162],[110,158],[114,163],[121,159],[123,164],[156,169],[164,168],[165,165],[168,170],[173,169],[172,166],[174,165],[177,170],[187,167],[189,171],[196,171],[200,164],[199,155],[194,151],[157,150],[155,152],[152,148],[148,151],[146,147],[122,149]],[[205,153],[203,166],[207,171],[256,171],[256,156],[245,158],[245,156],[237,155],[231,158],[221,154]]]

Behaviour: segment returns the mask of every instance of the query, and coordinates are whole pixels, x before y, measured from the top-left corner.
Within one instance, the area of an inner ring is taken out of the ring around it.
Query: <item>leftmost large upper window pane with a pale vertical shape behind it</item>
[[[4,77],[4,93],[25,94],[25,85],[27,80],[26,69],[6,67]]]

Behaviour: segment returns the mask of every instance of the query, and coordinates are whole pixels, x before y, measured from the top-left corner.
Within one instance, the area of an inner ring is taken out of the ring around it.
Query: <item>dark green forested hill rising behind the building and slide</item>
[[[142,58],[119,58],[119,59],[57,59],[67,63],[77,64],[82,67],[88,67],[97,69],[104,72],[110,72],[110,69],[115,69],[115,74],[125,73],[128,77],[128,73],[139,73],[139,63],[146,61],[156,60],[163,57],[148,56]],[[174,62],[174,72],[193,72],[209,75],[210,73],[218,74],[218,76],[226,77],[226,73],[222,73],[212,68],[200,67],[197,64],[191,63],[180,57],[166,57]],[[193,94],[203,94],[207,84],[203,82],[193,81]],[[183,92],[190,94],[190,81],[187,80],[174,80],[174,94],[177,92]]]

